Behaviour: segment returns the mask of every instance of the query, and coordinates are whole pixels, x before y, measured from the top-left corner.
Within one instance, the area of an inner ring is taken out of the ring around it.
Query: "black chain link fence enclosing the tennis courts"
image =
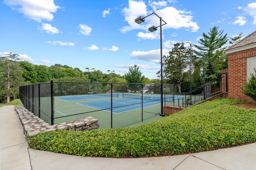
[[[173,91],[163,84],[163,92]],[[51,81],[20,86],[20,100],[51,125],[92,116],[100,129],[128,127],[161,111],[160,84]]]

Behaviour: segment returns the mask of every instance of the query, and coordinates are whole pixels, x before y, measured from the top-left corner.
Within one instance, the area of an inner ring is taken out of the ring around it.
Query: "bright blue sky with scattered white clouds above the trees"
[[[144,76],[157,78],[160,29],[148,28],[160,20],[153,14],[134,22],[152,12],[167,22],[163,55],[174,43],[198,44],[214,26],[228,37],[256,30],[256,0],[0,0],[0,55],[120,75],[137,64]]]

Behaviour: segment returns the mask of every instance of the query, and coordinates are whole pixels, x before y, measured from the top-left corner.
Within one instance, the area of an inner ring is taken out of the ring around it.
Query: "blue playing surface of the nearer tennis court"
[[[175,97],[174,100],[177,100],[182,97]],[[113,113],[122,113],[124,111],[130,111],[134,109],[141,108],[141,100],[136,100],[134,98],[120,98],[112,100],[112,112]],[[85,106],[94,107],[97,109],[105,109],[106,111],[111,111],[111,100],[101,100],[101,101],[93,101],[93,102],[81,102],[78,104],[82,104]],[[156,104],[161,104],[161,100],[155,100],[147,102],[143,102],[143,107],[153,106]],[[115,108],[113,108],[115,107]]]

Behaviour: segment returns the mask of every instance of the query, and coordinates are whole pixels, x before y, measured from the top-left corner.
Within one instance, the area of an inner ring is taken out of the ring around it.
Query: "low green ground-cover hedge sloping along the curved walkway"
[[[138,127],[54,131],[30,138],[32,149],[79,156],[172,155],[256,141],[256,109],[220,99]]]

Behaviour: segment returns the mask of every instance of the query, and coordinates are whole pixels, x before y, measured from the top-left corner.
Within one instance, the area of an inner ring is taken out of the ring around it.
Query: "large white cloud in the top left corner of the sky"
[[[56,6],[53,0],[4,0],[4,4],[24,14],[26,18],[41,22],[52,21],[60,6]]]

